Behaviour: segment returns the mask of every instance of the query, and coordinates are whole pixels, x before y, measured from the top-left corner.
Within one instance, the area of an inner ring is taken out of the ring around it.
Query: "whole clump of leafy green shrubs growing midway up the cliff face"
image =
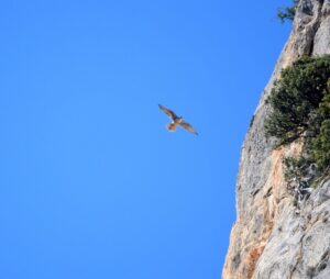
[[[286,172],[302,176],[314,164],[319,175],[330,166],[330,55],[302,57],[282,71],[266,102],[265,134],[276,147],[302,140],[298,158],[287,158]],[[292,172],[290,172],[292,171]]]

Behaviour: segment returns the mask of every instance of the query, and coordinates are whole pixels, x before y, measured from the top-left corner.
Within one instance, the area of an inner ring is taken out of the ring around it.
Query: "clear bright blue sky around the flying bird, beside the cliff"
[[[1,278],[220,278],[289,2],[2,1]]]

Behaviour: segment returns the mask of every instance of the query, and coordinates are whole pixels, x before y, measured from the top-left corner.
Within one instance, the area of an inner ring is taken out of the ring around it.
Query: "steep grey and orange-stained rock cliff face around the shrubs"
[[[265,97],[280,69],[302,55],[330,53],[330,0],[300,0],[292,34],[246,134],[237,181],[238,220],[223,279],[330,278],[330,179],[322,179],[300,210],[283,175],[283,157],[298,144],[272,148],[264,136]]]

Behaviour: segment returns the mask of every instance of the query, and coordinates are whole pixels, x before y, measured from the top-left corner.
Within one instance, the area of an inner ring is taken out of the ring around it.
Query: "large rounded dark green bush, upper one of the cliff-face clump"
[[[290,143],[310,126],[310,115],[319,109],[330,77],[330,56],[304,57],[282,71],[267,98],[272,113],[265,121],[266,136],[278,144]]]

